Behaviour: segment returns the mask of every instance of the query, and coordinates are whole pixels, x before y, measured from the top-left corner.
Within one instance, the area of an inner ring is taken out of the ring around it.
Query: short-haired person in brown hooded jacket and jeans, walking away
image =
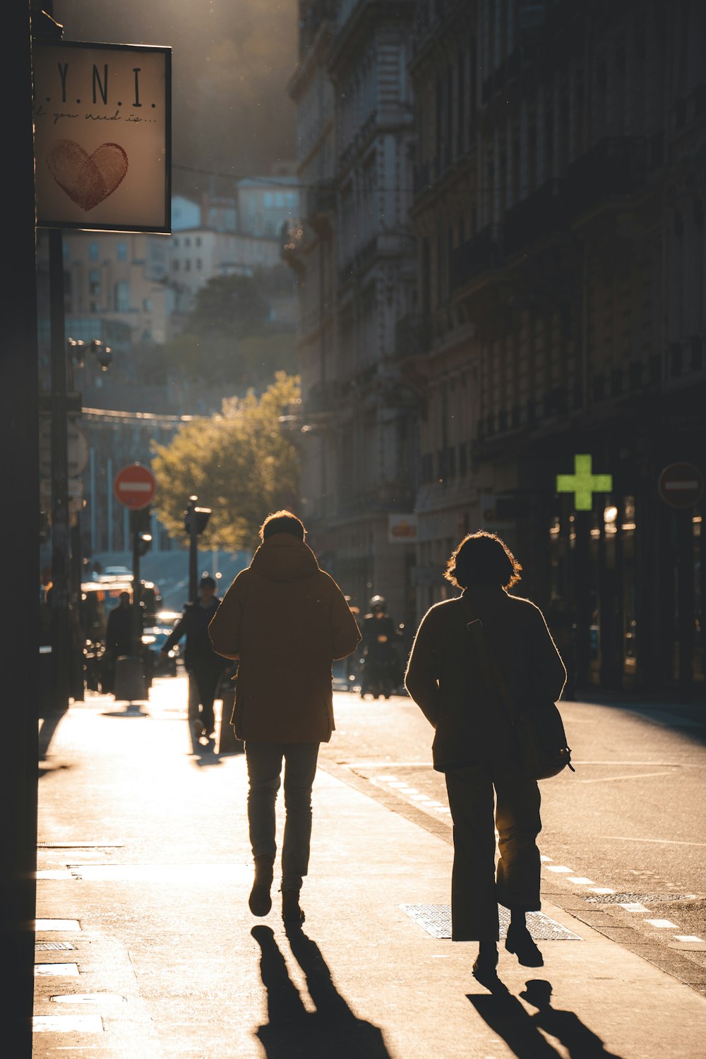
[[[209,626],[214,650],[238,660],[231,723],[245,740],[248,819],[255,861],[253,915],[272,908],[275,801],[285,766],[282,915],[301,923],[300,891],[311,842],[311,787],[319,747],[334,729],[331,664],[350,654],[360,631],[341,589],[304,542],[290,511],[269,515],[261,544],[223,596]]]

